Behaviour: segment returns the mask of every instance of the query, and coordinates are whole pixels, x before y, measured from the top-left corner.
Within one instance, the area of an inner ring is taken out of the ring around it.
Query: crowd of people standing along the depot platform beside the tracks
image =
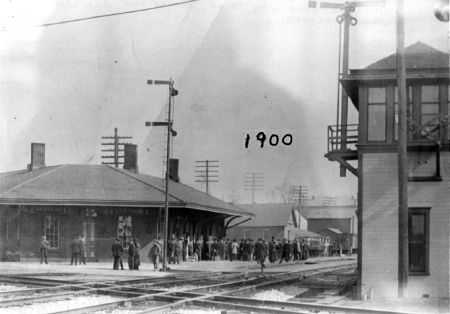
[[[41,264],[47,264],[49,241],[45,236],[41,239],[40,257]],[[70,243],[71,265],[86,264],[86,242],[84,237],[77,236]],[[131,238],[124,243],[123,239],[115,239],[112,244],[113,269],[124,269],[122,256],[126,253],[128,268],[138,270],[141,264],[141,246],[136,238]],[[159,269],[162,258],[163,243],[160,238],[150,244],[148,257],[155,270]],[[309,257],[309,247],[306,241],[294,239],[271,241],[264,239],[216,239],[202,237],[192,240],[189,235],[176,237],[172,235],[167,243],[168,264],[180,264],[186,261],[248,261],[261,265],[261,271],[265,262],[282,263],[305,260]]]

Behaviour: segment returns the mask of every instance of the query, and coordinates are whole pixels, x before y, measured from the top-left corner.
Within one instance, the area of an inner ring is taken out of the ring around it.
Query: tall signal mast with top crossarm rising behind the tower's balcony
[[[338,67],[338,79],[342,76],[348,74],[349,70],[349,48],[350,48],[350,26],[355,26],[358,24],[358,20],[351,15],[355,12],[357,7],[363,6],[377,6],[380,4],[384,5],[384,1],[346,1],[344,3],[338,2],[322,2],[322,1],[309,1],[310,8],[316,8],[319,6],[321,9],[339,9],[343,13],[336,17],[336,22],[339,24],[339,67]],[[343,28],[343,30],[342,30]],[[342,44],[342,46],[341,46]],[[342,51],[342,54],[341,54]],[[342,62],[342,65],[341,65]],[[337,112],[339,113],[339,108],[341,109],[341,123],[340,123],[340,149],[342,151],[347,150],[347,123],[348,123],[348,95],[345,89],[341,88],[338,84],[338,97],[337,102]],[[339,103],[340,101],[340,103]],[[339,117],[336,119],[336,135],[339,135]],[[346,168],[344,165],[340,165],[340,176],[346,176]]]

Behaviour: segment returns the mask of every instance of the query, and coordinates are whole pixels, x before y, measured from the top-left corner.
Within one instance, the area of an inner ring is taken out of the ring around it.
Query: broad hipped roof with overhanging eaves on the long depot
[[[0,204],[164,206],[164,180],[107,165],[58,165],[0,174]],[[188,185],[169,182],[169,206],[247,216],[239,207]]]

